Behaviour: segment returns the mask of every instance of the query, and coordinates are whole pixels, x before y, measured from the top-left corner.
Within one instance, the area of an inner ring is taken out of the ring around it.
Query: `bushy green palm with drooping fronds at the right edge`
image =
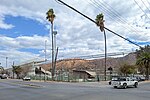
[[[136,64],[139,66],[143,66],[146,69],[146,79],[149,80],[150,52],[143,52],[137,59]]]

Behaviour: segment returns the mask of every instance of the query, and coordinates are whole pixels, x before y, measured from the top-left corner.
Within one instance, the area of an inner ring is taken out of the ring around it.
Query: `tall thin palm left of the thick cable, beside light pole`
[[[54,80],[54,75],[55,75],[55,68],[54,68],[54,39],[53,39],[53,21],[54,18],[56,17],[54,14],[53,9],[49,9],[48,12],[46,13],[47,17],[46,19],[51,22],[51,34],[52,34],[52,80]]]

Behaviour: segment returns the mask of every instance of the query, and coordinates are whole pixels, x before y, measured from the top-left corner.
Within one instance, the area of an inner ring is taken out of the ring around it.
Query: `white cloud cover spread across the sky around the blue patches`
[[[144,13],[139,9],[134,1],[120,0],[63,0],[69,5],[77,8],[79,11],[95,19],[99,13],[105,15],[105,26],[117,32],[124,37],[138,41],[150,41],[149,29],[150,19],[143,19]],[[95,4],[94,2],[97,2]],[[142,2],[138,1],[147,15],[150,15]],[[105,4],[102,2],[106,2]],[[99,4],[98,4],[99,3]],[[100,6],[100,5],[103,5]],[[110,7],[111,6],[111,7]],[[148,6],[148,5],[147,5]],[[149,5],[150,6],[150,5]],[[58,30],[57,45],[59,47],[59,56],[73,57],[81,55],[90,55],[104,52],[104,36],[99,28],[88,19],[82,17],[64,5],[60,5],[55,0],[1,0],[0,3],[0,28],[10,29],[14,25],[4,22],[6,15],[23,16],[44,24],[47,29],[50,28],[49,22],[46,21],[45,13],[49,8],[53,8],[56,14],[54,25]],[[113,9],[112,9],[113,8]],[[137,25],[141,25],[137,27]],[[137,32],[137,31],[142,31]],[[133,44],[115,36],[106,31],[108,52],[126,52],[137,48]],[[51,35],[50,35],[51,36]],[[44,41],[48,40],[47,52],[51,54],[51,37],[19,36],[17,38],[1,36],[0,46],[13,48],[32,48],[40,49],[39,53],[43,54]],[[18,52],[20,53],[20,52]],[[21,53],[22,54],[22,53]],[[28,54],[28,53],[27,53]],[[25,53],[24,57],[26,57]],[[31,54],[32,55],[32,54]],[[34,56],[34,54],[33,54]],[[29,57],[30,58],[30,57]]]

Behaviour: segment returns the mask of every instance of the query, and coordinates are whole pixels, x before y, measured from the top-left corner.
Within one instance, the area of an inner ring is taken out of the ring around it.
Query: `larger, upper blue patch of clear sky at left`
[[[24,35],[33,36],[35,34],[40,36],[47,36],[49,34],[49,30],[45,27],[44,24],[22,16],[5,16],[4,22],[14,25],[14,27],[11,29],[0,29],[0,33],[8,37],[15,38]]]

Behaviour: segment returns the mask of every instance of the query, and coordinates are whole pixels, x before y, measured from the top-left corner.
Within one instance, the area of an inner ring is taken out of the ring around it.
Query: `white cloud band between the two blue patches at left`
[[[42,36],[19,36],[16,38],[0,36],[1,47],[9,49],[19,49],[19,48],[31,48],[31,49],[42,49],[45,45],[45,40],[47,40],[47,45],[50,45],[48,37]]]

